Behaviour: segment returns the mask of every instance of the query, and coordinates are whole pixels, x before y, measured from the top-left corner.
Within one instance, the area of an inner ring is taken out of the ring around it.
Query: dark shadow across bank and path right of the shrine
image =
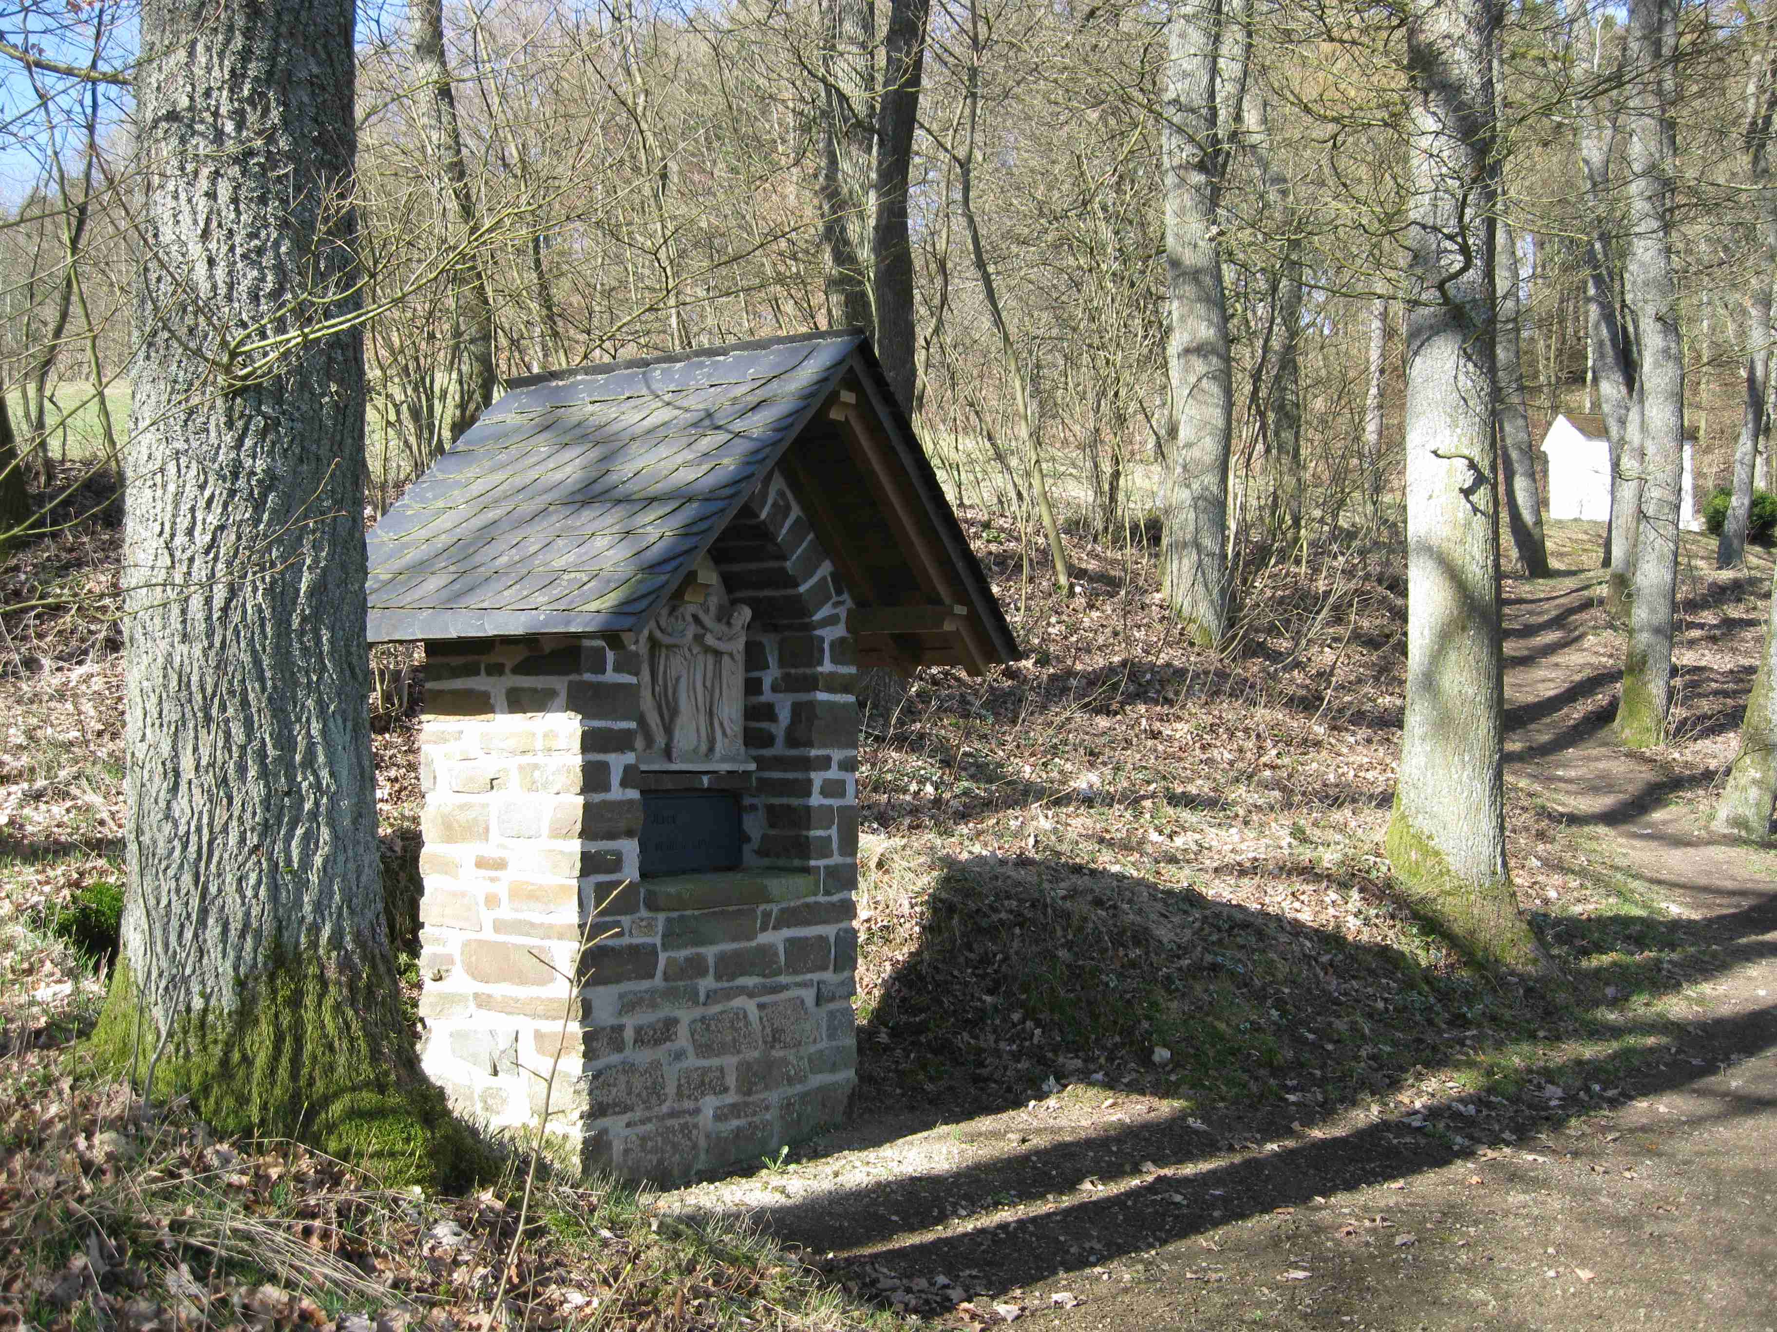
[[[896,909],[881,895],[867,904]],[[1359,908],[1349,893],[1343,909]],[[1056,861],[947,863],[919,909],[922,943],[860,1028],[858,1099],[881,1140],[1025,1106],[1045,1098],[1045,1076],[1075,1083],[1063,1096],[1079,1094],[1080,1117],[1098,1122],[944,1172],[771,1204],[755,1220],[821,1250],[873,1249],[901,1272],[984,1270],[995,1289],[1404,1179],[1619,1105],[1621,1087],[1672,1090],[1777,1046],[1777,1007],[1681,1027],[1640,1002],[1777,955],[1770,895],[1706,920],[1535,916],[1573,979],[1548,995],[1500,993],[1448,959],[1356,943],[1294,909]],[[1679,1037],[1688,1058],[1672,1055]],[[1153,1071],[1153,1044],[1175,1051],[1175,1076]],[[1429,1069],[1461,1090],[1418,1096]],[[1095,1106],[1120,1087],[1164,1099],[1105,1122]],[[1772,1110],[1752,1094],[1717,1105],[1724,1121]],[[1363,1108],[1374,1117],[1352,1126]],[[1148,1181],[1079,1190],[1155,1167]],[[1008,1199],[1047,1204],[992,1220]],[[897,1241],[938,1225],[951,1231]]]

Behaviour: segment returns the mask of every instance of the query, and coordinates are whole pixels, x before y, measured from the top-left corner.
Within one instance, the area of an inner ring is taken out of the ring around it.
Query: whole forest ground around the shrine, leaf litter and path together
[[[551,1183],[510,1266],[514,1179],[416,1204],[82,1071],[105,973],[64,927],[123,879],[117,533],[11,552],[0,1328],[451,1332],[501,1272],[537,1328],[1777,1323],[1772,861],[1701,833],[1766,552],[1715,574],[1686,540],[1674,739],[1647,758],[1603,733],[1596,575],[1509,586],[1507,842],[1571,977],[1548,996],[1477,977],[1377,854],[1398,547],[1247,570],[1207,654],[1139,540],[1070,531],[1059,597],[1004,519],[963,520],[1027,655],[869,691],[857,1117],[675,1193]],[[1573,570],[1598,538],[1551,524]],[[418,710],[377,712],[396,886]]]

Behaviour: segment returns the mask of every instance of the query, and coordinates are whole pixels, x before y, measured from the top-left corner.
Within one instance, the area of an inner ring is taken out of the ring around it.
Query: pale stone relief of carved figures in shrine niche
[[[716,590],[700,606],[670,602],[641,632],[643,767],[750,765],[741,710],[752,614]]]

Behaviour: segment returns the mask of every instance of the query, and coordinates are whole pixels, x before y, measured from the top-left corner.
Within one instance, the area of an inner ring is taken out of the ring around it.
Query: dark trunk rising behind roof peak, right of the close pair
[[[901,408],[912,416],[919,371],[913,361],[913,245],[906,188],[913,169],[919,82],[926,60],[931,0],[888,0],[885,73],[876,110],[876,359]]]

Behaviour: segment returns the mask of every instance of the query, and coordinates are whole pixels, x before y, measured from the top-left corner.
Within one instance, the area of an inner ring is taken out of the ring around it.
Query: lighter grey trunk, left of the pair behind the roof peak
[[[871,163],[876,146],[876,7],[873,0],[821,0],[821,234],[826,240],[826,302],[841,325],[857,325],[874,336]]]

